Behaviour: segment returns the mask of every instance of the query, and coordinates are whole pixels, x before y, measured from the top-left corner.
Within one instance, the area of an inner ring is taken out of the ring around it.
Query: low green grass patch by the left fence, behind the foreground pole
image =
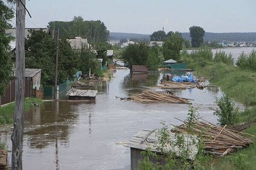
[[[35,107],[34,103],[39,105],[42,103],[41,99],[29,97],[25,99],[24,110],[27,111],[29,108]],[[10,103],[9,105],[2,106],[0,108],[0,125],[13,123],[13,114],[15,111],[15,103]]]

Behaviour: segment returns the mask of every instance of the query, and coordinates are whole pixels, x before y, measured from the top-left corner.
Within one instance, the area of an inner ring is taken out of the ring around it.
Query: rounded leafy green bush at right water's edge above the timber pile
[[[219,125],[233,125],[238,120],[239,110],[234,107],[235,103],[230,96],[223,94],[221,98],[215,98],[215,102],[219,108],[213,109],[213,114],[218,116]]]

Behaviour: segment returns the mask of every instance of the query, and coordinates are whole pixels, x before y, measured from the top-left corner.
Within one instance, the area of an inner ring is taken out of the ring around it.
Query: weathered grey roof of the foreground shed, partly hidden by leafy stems
[[[184,134],[184,145],[187,147],[189,143],[189,155],[188,158],[193,160],[195,159],[195,156],[198,153],[198,147],[197,144],[198,140],[196,139],[197,136],[189,135],[187,136]],[[158,142],[158,130],[148,130],[143,129],[140,130],[137,134],[135,134],[131,139],[128,140],[124,146],[126,147],[132,147],[135,149],[145,150],[146,148],[150,147],[151,151],[160,153],[161,151],[157,149],[157,147],[161,147],[161,145]],[[175,136],[175,133],[169,132],[169,138],[170,141],[175,142],[177,140],[177,136]],[[193,139],[192,139],[193,138]],[[188,140],[188,141],[187,141]],[[191,143],[193,140],[195,140],[195,144]],[[165,152],[169,152],[170,150],[176,154],[176,156],[179,156],[180,149],[177,146],[172,146],[171,144],[166,144],[166,146],[163,148]]]

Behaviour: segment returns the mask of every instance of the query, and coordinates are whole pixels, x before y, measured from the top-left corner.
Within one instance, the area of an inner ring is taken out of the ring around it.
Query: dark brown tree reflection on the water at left
[[[71,108],[72,105],[67,102],[46,102],[44,107],[25,113],[24,136],[28,146],[44,148],[56,143],[56,140],[67,143],[69,126],[75,125],[78,120],[77,113],[71,112]]]

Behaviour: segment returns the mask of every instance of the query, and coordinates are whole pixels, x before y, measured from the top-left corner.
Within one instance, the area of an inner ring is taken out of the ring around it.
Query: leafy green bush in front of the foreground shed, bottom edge
[[[193,135],[193,121],[197,119],[197,110],[193,107],[190,107],[186,125],[188,133],[175,133],[176,140],[170,140],[170,130],[165,125],[164,122],[161,124],[163,127],[158,129],[157,136],[158,143],[156,145],[157,150],[162,153],[163,156],[153,153],[150,148],[147,148],[145,151],[141,152],[141,155],[144,157],[140,161],[138,170],[189,170],[193,167],[194,170],[206,170],[207,162],[212,159],[210,156],[204,155],[204,144],[202,143],[201,136]],[[190,139],[190,140],[189,140]],[[189,140],[189,142],[188,142]],[[166,150],[166,146],[169,146],[170,150]],[[193,161],[187,159],[191,151],[189,148],[198,147],[198,154],[196,155]],[[178,157],[173,150],[179,151]],[[150,157],[153,157],[157,162],[150,161]],[[161,161],[165,161],[165,164],[162,166]]]

